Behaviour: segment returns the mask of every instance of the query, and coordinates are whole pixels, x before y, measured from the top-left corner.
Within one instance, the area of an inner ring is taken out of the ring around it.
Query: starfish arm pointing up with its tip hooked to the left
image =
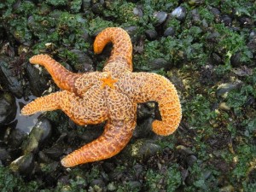
[[[93,45],[95,53],[102,53],[102,49],[109,42],[113,43],[113,50],[105,67],[109,63],[119,61],[119,66],[123,64],[129,71],[132,71],[132,44],[128,33],[119,27],[108,27],[103,30],[95,39]]]

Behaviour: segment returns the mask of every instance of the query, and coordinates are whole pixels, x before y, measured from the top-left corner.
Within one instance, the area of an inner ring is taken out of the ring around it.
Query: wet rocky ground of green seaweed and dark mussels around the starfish
[[[250,0],[0,3],[0,189],[255,191],[255,10]],[[104,123],[74,125],[60,111],[21,117],[35,96],[58,90],[28,60],[48,54],[75,73],[101,69],[112,45],[95,55],[92,44],[108,26],[130,34],[136,72],[175,84],[183,120],[172,136],[156,136],[157,105],[142,103],[120,154],[66,169],[61,158]]]

